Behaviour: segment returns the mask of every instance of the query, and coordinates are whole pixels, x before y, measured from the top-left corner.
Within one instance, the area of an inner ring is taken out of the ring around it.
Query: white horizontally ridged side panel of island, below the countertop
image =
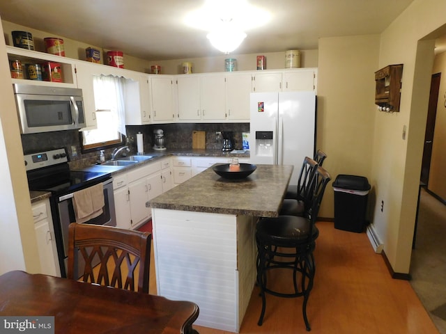
[[[238,333],[237,217],[158,208],[152,214],[158,294],[197,303],[199,326]]]

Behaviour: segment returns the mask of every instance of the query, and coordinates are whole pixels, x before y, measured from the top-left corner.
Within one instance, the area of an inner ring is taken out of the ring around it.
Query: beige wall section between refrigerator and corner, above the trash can
[[[379,35],[319,40],[317,143],[328,154],[324,167],[332,180],[348,174],[370,182],[379,40]],[[334,216],[331,184],[319,216]]]

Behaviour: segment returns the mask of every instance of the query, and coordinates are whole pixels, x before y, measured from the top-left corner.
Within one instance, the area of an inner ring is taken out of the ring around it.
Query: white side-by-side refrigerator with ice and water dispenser
[[[249,151],[252,164],[294,165],[290,184],[298,184],[305,157],[314,157],[314,91],[251,93]]]

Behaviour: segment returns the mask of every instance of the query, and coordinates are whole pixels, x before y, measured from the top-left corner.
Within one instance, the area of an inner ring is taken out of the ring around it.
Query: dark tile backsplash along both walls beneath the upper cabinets
[[[192,149],[192,132],[206,132],[206,149],[222,148],[222,137],[216,132],[233,132],[233,147],[242,149],[242,132],[249,132],[249,123],[176,123],[158,125],[127,126],[127,144],[132,153],[137,152],[136,134],[141,132],[144,137],[144,151],[153,147],[154,129],[164,131],[164,142],[167,150]],[[99,157],[98,152],[82,153],[79,132],[67,130],[59,132],[45,132],[42,134],[22,134],[24,154],[41,150],[52,150],[65,147],[70,155],[72,168],[80,168],[93,164]],[[74,150],[73,150],[74,148]],[[109,159],[113,149],[105,150],[105,157]]]

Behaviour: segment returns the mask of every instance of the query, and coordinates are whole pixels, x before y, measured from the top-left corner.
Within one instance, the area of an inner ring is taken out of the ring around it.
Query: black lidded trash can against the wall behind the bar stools
[[[337,175],[334,190],[334,228],[364,232],[370,184],[367,177]]]

